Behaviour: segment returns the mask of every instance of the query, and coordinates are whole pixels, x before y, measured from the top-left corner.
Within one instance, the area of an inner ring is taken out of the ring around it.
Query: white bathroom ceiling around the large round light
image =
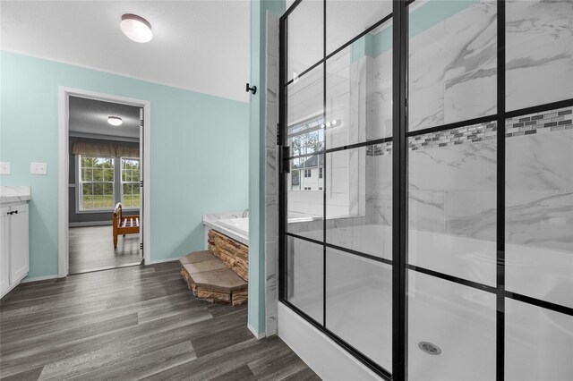
[[[246,0],[5,1],[0,48],[182,89],[248,101],[250,3]],[[124,13],[150,21],[139,44]]]

